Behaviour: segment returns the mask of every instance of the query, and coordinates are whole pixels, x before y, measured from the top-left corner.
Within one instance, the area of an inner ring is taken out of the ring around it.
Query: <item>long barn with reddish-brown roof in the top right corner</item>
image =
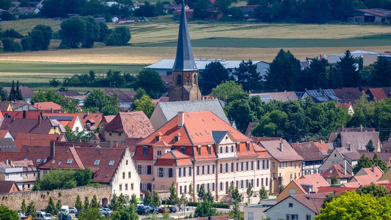
[[[345,13],[343,21],[348,22],[389,22],[391,11],[382,8],[356,9]]]

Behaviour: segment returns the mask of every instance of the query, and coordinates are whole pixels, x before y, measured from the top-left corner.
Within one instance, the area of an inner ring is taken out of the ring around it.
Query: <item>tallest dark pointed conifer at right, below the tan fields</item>
[[[340,61],[337,61],[336,66],[341,69],[344,87],[359,86],[361,81],[360,74],[358,70],[356,70],[354,63],[354,58],[349,50],[345,52],[345,56],[343,56]]]

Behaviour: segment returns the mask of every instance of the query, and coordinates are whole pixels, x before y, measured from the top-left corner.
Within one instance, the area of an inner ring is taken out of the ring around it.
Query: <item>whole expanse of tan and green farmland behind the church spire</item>
[[[164,16],[158,21],[168,19]],[[158,21],[129,25],[132,35],[129,46],[97,43],[90,49],[65,50],[58,49],[60,40],[52,40],[48,51],[0,54],[0,82],[19,79],[46,86],[50,79],[62,79],[90,69],[100,73],[112,69],[136,74],[143,66],[175,58],[178,23]],[[60,22],[32,19],[2,22],[0,26],[25,34],[36,24],[58,30]],[[109,27],[115,25],[109,24]],[[389,25],[193,21],[189,22],[189,30],[195,58],[271,62],[281,48],[304,60],[319,54],[343,53],[347,49],[382,52],[391,47]]]

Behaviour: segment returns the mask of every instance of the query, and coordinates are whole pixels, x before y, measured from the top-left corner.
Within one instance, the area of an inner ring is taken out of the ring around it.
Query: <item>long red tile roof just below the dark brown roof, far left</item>
[[[20,132],[15,138],[15,146],[21,150],[23,145],[50,146],[51,141],[66,141],[64,134],[43,134]]]

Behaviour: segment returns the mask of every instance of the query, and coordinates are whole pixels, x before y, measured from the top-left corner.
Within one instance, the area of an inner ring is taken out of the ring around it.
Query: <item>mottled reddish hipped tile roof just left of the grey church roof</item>
[[[104,130],[125,132],[128,137],[146,137],[154,132],[150,119],[143,111],[119,112]]]

